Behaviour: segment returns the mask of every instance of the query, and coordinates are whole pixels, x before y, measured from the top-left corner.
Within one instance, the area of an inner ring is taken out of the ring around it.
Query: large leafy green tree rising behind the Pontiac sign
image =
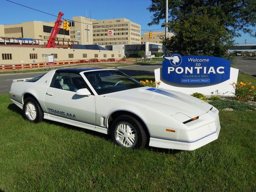
[[[159,24],[165,18],[165,0],[152,0],[148,10],[154,13],[148,25]],[[252,34],[250,28],[256,26],[256,1],[252,0],[173,0],[168,10],[168,29],[175,36],[163,44],[182,55],[224,57],[234,37],[241,32]]]

